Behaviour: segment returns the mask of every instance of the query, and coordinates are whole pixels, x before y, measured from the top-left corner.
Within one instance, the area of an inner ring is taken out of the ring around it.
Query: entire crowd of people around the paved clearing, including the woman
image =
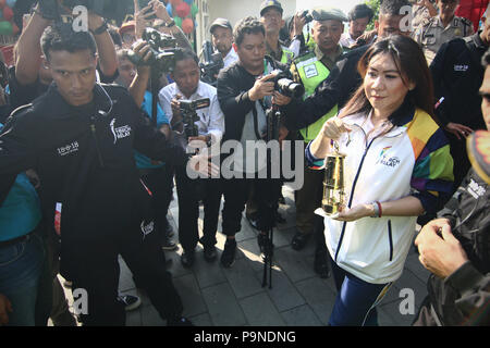
[[[247,146],[264,140],[303,150],[291,247],[314,243],[314,270],[333,275],[329,325],[378,325],[415,237],[432,275],[414,325],[489,325],[489,183],[466,138],[490,127],[490,16],[475,33],[457,4],[383,0],[378,13],[358,4],[283,17],[266,0],[258,16],[210,24],[222,61],[212,85],[159,0],[135,1],[120,27],[89,12],[88,32],[33,8],[2,84],[0,325],[124,325],[140,300],[119,293],[119,257],[168,325],[192,325],[166,252],[176,233],[185,268],[197,244],[216,262],[223,200],[221,265],[234,264],[244,213],[270,256],[286,178]],[[157,59],[151,27],[173,38],[171,59]],[[278,71],[304,95],[278,88]],[[332,215],[318,208],[333,150],[345,158],[345,206]],[[76,318],[58,274],[89,294]]]

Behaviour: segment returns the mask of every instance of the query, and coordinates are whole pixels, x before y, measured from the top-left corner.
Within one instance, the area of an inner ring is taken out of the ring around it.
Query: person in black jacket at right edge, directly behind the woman
[[[481,57],[490,45],[490,20],[483,17],[482,22],[483,28],[477,34],[444,44],[430,65],[436,114],[448,133],[454,162],[458,163],[454,166],[454,189],[470,167],[466,137],[485,129],[478,91],[485,73]]]

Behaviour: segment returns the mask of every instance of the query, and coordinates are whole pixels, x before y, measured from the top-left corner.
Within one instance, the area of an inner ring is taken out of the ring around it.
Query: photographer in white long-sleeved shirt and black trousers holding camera
[[[191,50],[176,50],[171,77],[175,82],[163,87],[159,98],[172,129],[183,135],[184,142],[199,140],[208,147],[220,144],[224,133],[224,116],[216,88],[199,80],[197,55]],[[179,241],[184,249],[182,264],[194,264],[197,241],[204,247],[205,260],[211,262],[217,258],[215,245],[221,201],[219,181],[192,179],[182,165],[175,167],[175,182],[179,196]],[[205,217],[204,237],[199,240],[197,220],[200,199],[204,201]]]

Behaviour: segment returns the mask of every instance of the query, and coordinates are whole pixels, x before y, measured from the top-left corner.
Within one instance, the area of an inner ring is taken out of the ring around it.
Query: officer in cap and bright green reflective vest
[[[338,9],[315,9],[313,11],[314,24],[311,36],[315,47],[311,52],[294,60],[291,71],[297,82],[305,87],[305,98],[313,95],[315,88],[320,85],[334,67],[335,62],[342,57],[343,50],[339,44],[344,30],[343,22],[347,22],[345,14]],[[321,119],[299,130],[305,146],[315,139],[323,123],[334,116],[338,112],[336,105],[327,112]],[[305,162],[306,163],[306,162]],[[317,251],[326,249],[318,248],[324,245],[322,219],[315,215],[315,209],[320,207],[322,196],[323,171],[304,169],[305,184],[296,191],[296,234],[291,243],[293,249],[299,250],[315,231],[319,232]],[[318,221],[317,221],[318,220]],[[316,261],[318,261],[318,257]],[[328,276],[328,266],[316,262],[316,271],[322,276]]]

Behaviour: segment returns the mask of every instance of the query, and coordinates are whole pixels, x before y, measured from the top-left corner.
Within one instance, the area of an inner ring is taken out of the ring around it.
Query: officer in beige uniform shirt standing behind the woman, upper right
[[[442,44],[474,34],[470,21],[454,15],[460,0],[438,0],[439,15],[424,21],[415,32],[417,41],[430,65]]]

